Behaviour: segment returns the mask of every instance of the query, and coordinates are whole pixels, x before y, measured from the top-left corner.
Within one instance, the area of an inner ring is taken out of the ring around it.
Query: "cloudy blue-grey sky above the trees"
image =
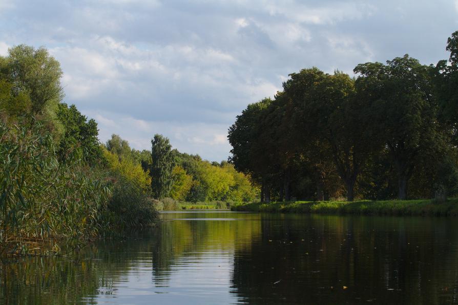
[[[0,55],[25,43],[61,64],[65,102],[150,149],[154,134],[226,160],[227,129],[288,74],[409,54],[448,58],[458,0],[0,0]]]

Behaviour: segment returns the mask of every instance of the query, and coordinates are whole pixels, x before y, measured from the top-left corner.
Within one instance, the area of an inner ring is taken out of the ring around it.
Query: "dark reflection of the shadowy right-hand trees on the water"
[[[241,301],[457,302],[456,222],[316,215],[306,222],[264,219],[262,241],[236,253],[232,282]]]

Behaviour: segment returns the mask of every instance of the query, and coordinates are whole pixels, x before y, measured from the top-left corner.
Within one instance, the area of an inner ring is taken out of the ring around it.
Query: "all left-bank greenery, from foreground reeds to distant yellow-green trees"
[[[151,225],[156,199],[253,200],[232,164],[181,154],[161,135],[151,150],[117,135],[101,144],[97,122],[64,102],[62,75],[45,48],[0,56],[0,258]]]

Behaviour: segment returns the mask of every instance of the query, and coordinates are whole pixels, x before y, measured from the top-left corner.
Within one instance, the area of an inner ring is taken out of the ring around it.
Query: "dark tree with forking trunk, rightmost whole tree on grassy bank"
[[[359,64],[357,88],[373,104],[378,119],[374,134],[383,138],[398,173],[398,197],[407,197],[407,184],[420,154],[435,148],[438,124],[429,68],[408,55],[386,64]]]

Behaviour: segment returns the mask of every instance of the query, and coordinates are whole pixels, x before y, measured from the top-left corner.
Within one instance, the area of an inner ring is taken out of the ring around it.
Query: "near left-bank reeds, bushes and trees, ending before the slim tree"
[[[62,253],[157,218],[141,153],[101,146],[97,123],[62,102],[61,75],[43,48],[0,57],[0,257]]]

